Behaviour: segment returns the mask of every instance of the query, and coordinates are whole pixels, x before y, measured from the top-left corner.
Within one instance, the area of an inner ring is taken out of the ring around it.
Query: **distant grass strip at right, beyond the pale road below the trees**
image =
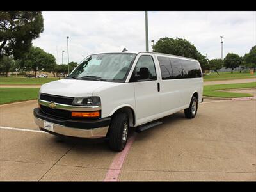
[[[204,76],[204,81],[221,81],[221,80],[230,80],[230,79],[248,79],[248,78],[255,78],[255,73],[252,75],[250,72],[246,73],[239,73],[233,72],[219,72],[218,75],[216,72],[212,72],[211,74]],[[253,77],[254,76],[254,77]]]

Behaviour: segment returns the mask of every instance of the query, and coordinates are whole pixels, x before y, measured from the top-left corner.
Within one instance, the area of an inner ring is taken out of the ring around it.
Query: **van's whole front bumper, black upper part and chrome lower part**
[[[100,120],[63,120],[45,115],[39,108],[34,109],[35,123],[41,130],[65,136],[79,138],[102,138],[106,137],[111,118]],[[52,131],[44,129],[44,122],[52,123]]]

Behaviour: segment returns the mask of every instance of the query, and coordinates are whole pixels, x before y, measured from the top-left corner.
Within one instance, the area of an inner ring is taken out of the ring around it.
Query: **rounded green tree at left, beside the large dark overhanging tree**
[[[50,71],[55,64],[54,56],[44,52],[40,47],[31,47],[28,54],[20,61],[20,67],[28,71],[35,71],[35,77],[36,72],[40,70]]]

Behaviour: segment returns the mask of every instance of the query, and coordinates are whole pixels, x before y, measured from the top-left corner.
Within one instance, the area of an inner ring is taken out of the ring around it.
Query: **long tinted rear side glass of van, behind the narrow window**
[[[196,61],[171,58],[173,79],[202,77],[200,66]]]

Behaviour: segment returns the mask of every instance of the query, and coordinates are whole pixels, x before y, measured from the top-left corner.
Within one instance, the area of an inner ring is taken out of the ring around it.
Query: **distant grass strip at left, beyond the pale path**
[[[26,78],[26,77],[0,77],[0,84],[44,84],[56,81],[58,78]]]

